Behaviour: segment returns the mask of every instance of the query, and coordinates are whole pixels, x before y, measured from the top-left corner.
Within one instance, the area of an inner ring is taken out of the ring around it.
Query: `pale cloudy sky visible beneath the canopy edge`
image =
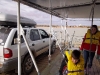
[[[0,0],[0,13],[17,14],[17,2],[12,0]],[[50,25],[50,14],[41,12],[37,9],[21,4],[21,16],[33,19],[39,25]],[[52,17],[53,25],[65,25],[66,21],[61,22],[60,18]],[[91,25],[89,19],[68,19],[68,25]],[[100,20],[95,20],[94,24],[99,25]]]

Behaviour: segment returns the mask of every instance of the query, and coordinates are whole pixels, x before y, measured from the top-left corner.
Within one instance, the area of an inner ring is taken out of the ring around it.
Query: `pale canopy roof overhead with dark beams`
[[[21,3],[60,18],[90,18],[94,0],[20,0]],[[100,0],[95,0],[94,18],[100,18]],[[51,4],[50,4],[51,3]],[[51,9],[51,10],[50,10]]]

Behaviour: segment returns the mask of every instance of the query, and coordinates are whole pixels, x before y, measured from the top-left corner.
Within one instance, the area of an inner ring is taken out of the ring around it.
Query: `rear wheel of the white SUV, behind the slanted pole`
[[[33,65],[33,62],[32,62],[30,55],[27,55],[25,57],[25,60],[22,64],[22,68],[23,68],[24,75],[28,75],[33,71],[34,65]]]

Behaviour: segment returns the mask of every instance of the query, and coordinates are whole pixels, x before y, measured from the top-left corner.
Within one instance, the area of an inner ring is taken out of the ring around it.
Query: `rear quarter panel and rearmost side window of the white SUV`
[[[27,30],[24,29],[24,32],[25,32],[25,36],[26,36],[26,33],[27,33]],[[8,48],[10,48],[11,50],[13,50],[13,58],[17,57],[18,54],[18,46],[17,46],[17,29],[13,29],[12,30],[12,33],[11,33],[11,36],[10,36],[10,40],[8,40],[8,44],[11,43],[11,46],[9,46]],[[21,35],[20,37],[21,39],[21,55],[24,55],[24,53],[27,51],[27,47],[25,45],[25,41],[23,39],[23,36]]]

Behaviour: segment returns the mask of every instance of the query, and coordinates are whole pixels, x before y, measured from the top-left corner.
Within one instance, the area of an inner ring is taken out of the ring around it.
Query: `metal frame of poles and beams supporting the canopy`
[[[21,75],[21,52],[20,52],[20,49],[21,49],[21,40],[20,40],[20,28],[21,28],[21,26],[20,26],[20,0],[17,0],[18,1],[18,12],[17,12],[17,28],[18,28],[18,75]],[[21,0],[22,1],[22,0]],[[51,0],[50,0],[51,1]],[[93,5],[95,5],[95,4],[100,4],[100,3],[96,3],[95,2],[96,0],[94,0],[94,3],[93,3]],[[25,3],[25,2],[24,2]],[[51,2],[50,2],[51,3]],[[92,3],[91,3],[92,4]],[[38,8],[38,9],[40,9],[40,6],[38,5],[38,6],[36,6],[36,4],[34,4],[35,6],[34,6],[34,8]],[[86,6],[86,5],[90,5],[90,4],[85,4],[85,5],[77,5],[77,6],[71,6],[71,7],[79,7],[79,6]],[[33,4],[29,4],[29,6],[33,6]],[[60,14],[58,14],[58,13],[55,13],[55,11],[52,11],[52,10],[56,10],[56,9],[63,9],[63,8],[71,8],[71,7],[60,7],[60,8],[53,8],[53,9],[48,9],[48,8],[43,8],[43,7],[41,7],[42,8],[42,11],[44,10],[44,11],[46,11],[47,13],[50,13],[51,14],[51,19],[52,19],[52,15],[55,15],[55,16],[57,16],[57,17],[60,17],[60,18],[63,18],[63,17],[61,17],[60,16]],[[41,9],[40,9],[41,10]],[[49,10],[49,11],[48,11]],[[93,10],[92,10],[92,25],[93,25],[93,18],[94,18],[94,6],[93,6]],[[51,24],[50,24],[50,33],[51,33],[51,25],[52,25],[52,21],[51,21]],[[23,35],[23,34],[22,34]],[[23,37],[24,37],[24,35],[23,35]],[[25,37],[24,37],[24,40],[25,40]],[[51,44],[50,44],[50,41],[51,41],[51,35],[50,35],[50,39],[49,39],[49,62],[50,62],[50,57],[51,57]],[[27,43],[27,41],[26,41],[26,43]],[[28,46],[28,44],[27,44],[27,46]],[[29,46],[28,46],[29,47]],[[30,50],[30,49],[29,49]],[[31,52],[30,52],[30,55],[31,55]],[[31,55],[31,58],[33,58],[34,59],[34,57]],[[33,63],[34,63],[34,65],[35,65],[35,68],[36,68],[36,71],[37,71],[37,73],[38,73],[38,75],[40,75],[40,72],[39,72],[39,69],[37,68],[37,65],[36,65],[36,63],[35,63],[35,60],[32,60],[33,61]]]

